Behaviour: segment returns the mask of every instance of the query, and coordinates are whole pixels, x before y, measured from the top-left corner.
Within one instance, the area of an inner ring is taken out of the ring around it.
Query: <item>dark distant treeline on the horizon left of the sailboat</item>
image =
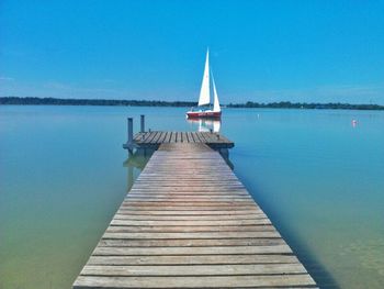
[[[0,98],[0,104],[20,105],[114,105],[114,107],[193,107],[192,101],[115,100],[115,99],[59,99],[59,98]]]

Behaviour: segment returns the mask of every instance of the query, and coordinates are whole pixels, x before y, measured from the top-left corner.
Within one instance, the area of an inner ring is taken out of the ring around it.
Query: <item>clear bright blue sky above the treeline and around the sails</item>
[[[0,1],[0,96],[384,104],[384,1]]]

